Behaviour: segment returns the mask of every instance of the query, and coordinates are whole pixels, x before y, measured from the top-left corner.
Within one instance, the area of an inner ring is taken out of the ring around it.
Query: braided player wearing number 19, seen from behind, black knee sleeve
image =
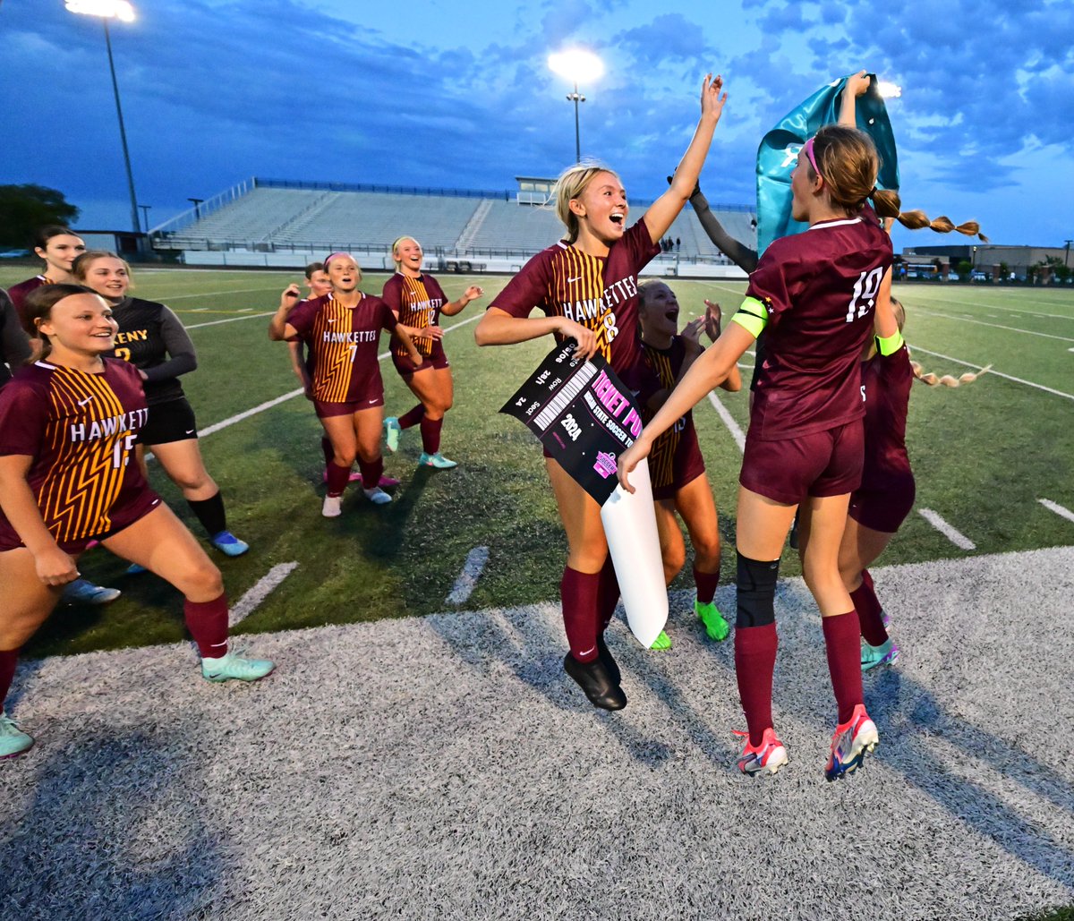
[[[898,194],[875,188],[877,170],[876,149],[857,129],[826,126],[804,144],[792,177],[793,214],[810,229],[765,251],[728,328],[620,457],[620,482],[630,488],[629,471],[656,436],[719,384],[765,331],[768,350],[739,476],[737,528],[735,664],[749,727],[738,763],[749,774],[774,774],[787,763],[772,727],[773,599],[780,553],[798,508],[802,572],[821,609],[838,705],[825,776],[855,770],[877,743],[862,699],[858,618],[839,571],[846,510],[861,480],[858,364],[874,330],[883,349],[898,335],[891,242],[877,214],[911,229],[941,225],[920,213],[901,214]]]

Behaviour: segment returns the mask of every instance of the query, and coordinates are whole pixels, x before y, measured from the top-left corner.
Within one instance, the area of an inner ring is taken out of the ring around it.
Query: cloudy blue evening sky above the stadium
[[[113,49],[154,224],[252,175],[479,189],[555,175],[574,160],[574,114],[546,60],[583,44],[607,73],[581,88],[582,154],[638,199],[684,149],[707,70],[730,99],[702,185],[745,204],[764,132],[866,68],[903,87],[888,108],[904,207],[976,218],[996,243],[1074,237],[1069,0],[134,3]],[[83,228],[127,226],[99,21],[63,0],[6,0],[0,35],[0,182],[60,189]],[[896,246],[926,240],[940,242],[902,232]]]

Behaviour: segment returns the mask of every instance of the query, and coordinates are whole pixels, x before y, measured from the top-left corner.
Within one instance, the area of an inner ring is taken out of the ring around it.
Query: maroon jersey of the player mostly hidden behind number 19
[[[866,460],[862,489],[884,489],[910,473],[906,412],[914,370],[906,343],[890,355],[879,352],[861,367],[866,392]]]

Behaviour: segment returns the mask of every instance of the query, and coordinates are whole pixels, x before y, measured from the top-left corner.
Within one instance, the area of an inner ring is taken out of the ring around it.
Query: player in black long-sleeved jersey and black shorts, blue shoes
[[[242,556],[249,544],[228,530],[223,497],[205,469],[194,411],[179,383],[180,375],[198,367],[194,343],[179,318],[163,304],[130,297],[130,266],[114,252],[84,252],[71,273],[112,305],[112,317],[119,324],[113,356],[134,365],[144,382],[151,411],[137,435],[139,463],[144,465],[145,452],[151,451],[183,492],[208,542],[228,556]]]

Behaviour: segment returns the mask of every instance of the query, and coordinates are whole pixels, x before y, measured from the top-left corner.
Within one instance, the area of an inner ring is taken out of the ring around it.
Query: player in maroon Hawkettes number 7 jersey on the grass
[[[377,360],[380,331],[400,337],[415,366],[422,356],[413,347],[411,331],[388,305],[359,291],[362,272],[353,257],[334,252],[324,260],[324,271],[332,291],[299,307],[299,287],[292,284],[268,324],[268,338],[301,338],[313,357],[314,408],[334,452],[321,514],[333,518],[342,514],[343,492],[355,457],[366,498],[378,506],[392,500],[378,485],[384,469],[380,456],[384,384]],[[442,330],[436,330],[442,335]]]

